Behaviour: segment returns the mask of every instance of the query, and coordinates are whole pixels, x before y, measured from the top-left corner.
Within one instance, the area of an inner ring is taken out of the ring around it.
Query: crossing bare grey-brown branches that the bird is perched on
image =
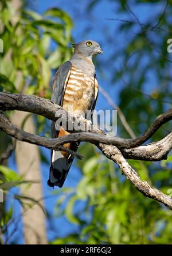
[[[57,106],[50,100],[42,99],[36,96],[17,95],[12,93],[0,92],[0,108],[5,110],[22,110],[32,112],[45,116],[46,118],[56,121],[56,112],[64,118],[65,122],[76,121],[74,116],[69,112]],[[59,115],[58,115],[59,116]],[[147,129],[147,131],[138,138],[124,139],[119,137],[112,137],[107,135],[105,131],[99,129],[96,126],[91,125],[91,132],[85,131],[85,126],[88,126],[88,121],[79,119],[80,132],[73,130],[72,134],[66,135],[60,138],[44,138],[38,135],[26,133],[26,131],[20,130],[12,125],[5,115],[0,114],[0,129],[5,133],[11,135],[17,140],[26,141],[32,144],[45,146],[49,149],[59,149],[63,144],[73,141],[87,141],[95,144],[101,152],[114,161],[132,184],[146,197],[153,198],[158,202],[161,202],[172,209],[172,199],[161,191],[148,185],[146,181],[140,180],[136,171],[127,163],[125,158],[138,159],[147,161],[157,161],[166,159],[167,153],[169,153],[172,147],[172,133],[167,135],[161,141],[154,142],[145,146],[140,146],[143,142],[147,141],[154,133],[167,121],[172,119],[172,108],[166,111],[162,115],[159,115],[153,124]],[[108,145],[107,145],[108,144]],[[118,146],[118,148],[116,147]],[[137,147],[136,147],[137,146]],[[64,150],[64,148],[61,148]],[[77,156],[75,152],[71,152]],[[77,157],[81,157],[80,155]],[[125,157],[125,158],[124,158]]]

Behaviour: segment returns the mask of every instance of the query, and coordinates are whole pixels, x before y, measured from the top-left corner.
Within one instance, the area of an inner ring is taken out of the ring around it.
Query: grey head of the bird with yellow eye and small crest
[[[80,43],[72,44],[72,46],[75,48],[73,58],[79,55],[81,58],[93,59],[97,54],[103,54],[100,45],[93,40],[81,41]]]

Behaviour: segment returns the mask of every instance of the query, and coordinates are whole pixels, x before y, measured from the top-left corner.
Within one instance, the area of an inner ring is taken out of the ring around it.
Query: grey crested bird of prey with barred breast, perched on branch
[[[73,44],[74,52],[72,58],[61,65],[54,77],[52,88],[52,101],[65,110],[73,110],[73,115],[95,108],[98,83],[96,80],[95,66],[92,59],[103,51],[100,45],[92,40]],[[85,116],[83,116],[85,118]],[[52,138],[69,134],[64,129],[55,129],[52,122]],[[65,148],[76,152],[79,144],[77,142],[64,144]],[[73,161],[73,155],[65,151],[52,150],[50,175],[48,185],[50,187],[62,187]]]

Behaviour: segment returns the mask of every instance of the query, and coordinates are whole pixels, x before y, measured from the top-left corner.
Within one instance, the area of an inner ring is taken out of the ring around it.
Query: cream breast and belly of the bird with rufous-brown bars
[[[73,114],[91,109],[95,100],[95,78],[72,66],[65,88],[62,107]]]

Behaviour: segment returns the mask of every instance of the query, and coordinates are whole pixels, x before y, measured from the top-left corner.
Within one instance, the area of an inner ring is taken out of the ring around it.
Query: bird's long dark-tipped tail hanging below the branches
[[[58,137],[69,134],[64,129],[60,129]],[[76,142],[64,144],[65,148],[76,151],[78,144]],[[73,156],[65,151],[52,150],[51,153],[51,165],[49,170],[48,185],[50,187],[58,186],[62,187],[67,178],[69,169],[73,161]]]

